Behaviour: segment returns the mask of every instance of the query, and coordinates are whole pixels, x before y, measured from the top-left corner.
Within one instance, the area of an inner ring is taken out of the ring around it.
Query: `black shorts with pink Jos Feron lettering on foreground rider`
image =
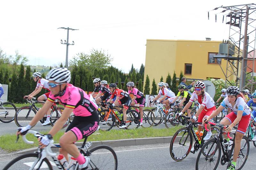
[[[75,116],[67,131],[72,131],[76,135],[76,140],[88,137],[97,130],[99,126],[99,116],[97,111],[92,112],[91,116]]]

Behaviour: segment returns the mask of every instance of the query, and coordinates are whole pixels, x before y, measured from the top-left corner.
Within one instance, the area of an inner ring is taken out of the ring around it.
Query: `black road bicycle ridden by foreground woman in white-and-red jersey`
[[[170,143],[170,154],[172,159],[175,161],[181,161],[188,156],[193,145],[193,138],[195,139],[195,143],[194,151],[192,153],[195,153],[197,150],[202,148],[205,143],[204,137],[207,133],[207,131],[203,130],[203,135],[201,137],[199,136],[198,138],[194,126],[195,124],[202,125],[202,123],[192,123],[192,121],[190,121],[191,117],[182,115],[180,116],[179,119],[180,121],[183,121],[183,124],[186,124],[186,127],[179,129],[173,135]],[[211,131],[212,138],[214,138],[215,135],[220,131],[220,129],[217,126],[212,126]],[[201,150],[203,150],[203,148]]]

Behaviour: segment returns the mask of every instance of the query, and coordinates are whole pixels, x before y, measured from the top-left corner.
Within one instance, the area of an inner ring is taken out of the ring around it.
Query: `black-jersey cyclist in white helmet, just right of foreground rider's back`
[[[97,90],[99,90],[99,93],[95,97],[96,103],[100,104],[101,101],[108,100],[110,98],[110,96],[111,96],[111,92],[110,92],[110,90],[107,87],[105,87],[105,86],[100,84],[100,78],[94,79],[93,83],[94,83],[95,89],[92,92],[92,96],[94,95],[94,93]],[[101,96],[102,93],[103,93],[103,96]]]

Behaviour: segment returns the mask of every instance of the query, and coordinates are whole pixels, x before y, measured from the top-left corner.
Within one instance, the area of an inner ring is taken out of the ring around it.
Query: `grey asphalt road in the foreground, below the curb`
[[[114,147],[117,154],[118,169],[138,169],[138,170],[177,170],[177,169],[195,169],[196,157],[195,154],[190,153],[186,159],[180,162],[174,161],[169,152],[169,144],[156,144],[156,145],[140,145],[140,146],[126,146],[126,147]],[[9,161],[19,155],[4,155],[0,156],[0,167],[4,167]],[[256,148],[250,143],[249,157],[244,165],[243,169],[255,169],[256,162]],[[26,160],[26,162],[20,163],[18,166],[20,169],[29,168],[33,160]],[[54,166],[54,169],[57,169]],[[108,164],[106,164],[108,167]],[[226,166],[219,164],[218,170],[225,170]],[[46,168],[45,168],[46,169]],[[105,169],[105,168],[104,168]],[[108,169],[108,168],[106,168]]]

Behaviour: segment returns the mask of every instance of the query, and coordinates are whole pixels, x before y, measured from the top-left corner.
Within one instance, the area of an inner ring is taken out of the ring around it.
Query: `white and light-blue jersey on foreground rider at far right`
[[[222,103],[221,106],[225,107],[228,106],[228,108],[233,111],[235,114],[237,114],[238,110],[243,110],[243,116],[250,115],[251,111],[249,109],[249,106],[245,103],[243,97],[238,97],[236,99],[235,105],[232,107],[231,103],[228,102],[228,97],[226,97]]]

